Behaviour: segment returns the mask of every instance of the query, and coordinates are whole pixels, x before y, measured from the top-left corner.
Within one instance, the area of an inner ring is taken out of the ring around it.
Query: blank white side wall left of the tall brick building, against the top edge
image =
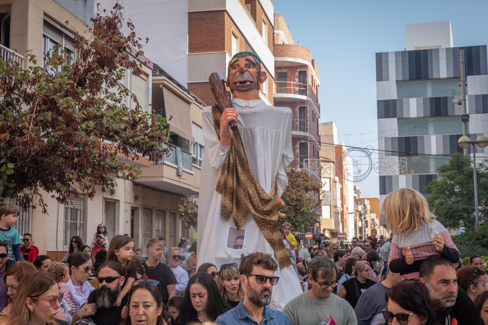
[[[107,12],[115,0],[97,0]],[[120,0],[124,7],[124,34],[127,19],[132,20],[136,36],[145,43],[144,55],[161,66],[186,87],[188,52],[188,13],[185,0]]]

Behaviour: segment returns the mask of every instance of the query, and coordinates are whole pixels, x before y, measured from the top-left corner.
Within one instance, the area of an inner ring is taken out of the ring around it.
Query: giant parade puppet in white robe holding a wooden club
[[[293,161],[292,111],[259,97],[266,81],[261,59],[240,52],[229,61],[226,81],[210,76],[213,106],[203,109],[205,150],[198,209],[198,264],[239,264],[241,254],[271,254],[279,267],[273,309],[302,293],[279,232],[285,168]],[[226,91],[225,84],[232,93]],[[202,231],[203,230],[203,231]]]

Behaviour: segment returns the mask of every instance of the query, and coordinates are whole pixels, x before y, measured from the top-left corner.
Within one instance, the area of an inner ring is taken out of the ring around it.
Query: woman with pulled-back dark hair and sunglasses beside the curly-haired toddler
[[[75,313],[86,302],[90,292],[95,288],[88,282],[93,272],[90,255],[83,252],[74,252],[68,257],[70,279],[66,283],[71,299],[71,311]]]

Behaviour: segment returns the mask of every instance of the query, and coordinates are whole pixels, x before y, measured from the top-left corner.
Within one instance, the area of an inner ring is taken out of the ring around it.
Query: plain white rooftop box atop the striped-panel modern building
[[[405,25],[407,51],[439,47],[453,47],[450,21]]]

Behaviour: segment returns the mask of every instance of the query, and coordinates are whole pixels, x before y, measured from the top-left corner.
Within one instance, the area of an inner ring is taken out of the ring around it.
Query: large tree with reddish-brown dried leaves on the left
[[[121,10],[119,3],[110,14],[97,10],[94,27],[86,27],[90,37],[77,33],[74,39],[74,62],[58,45],[41,62],[28,54],[26,69],[0,61],[2,198],[19,197],[24,206],[36,198],[46,212],[41,190],[66,203],[71,196],[93,198],[115,178],[137,179],[139,168],[118,155],[163,159],[166,121],[147,113],[120,82],[126,70],[142,73],[136,59],[143,54],[130,20],[129,34],[122,34]]]

